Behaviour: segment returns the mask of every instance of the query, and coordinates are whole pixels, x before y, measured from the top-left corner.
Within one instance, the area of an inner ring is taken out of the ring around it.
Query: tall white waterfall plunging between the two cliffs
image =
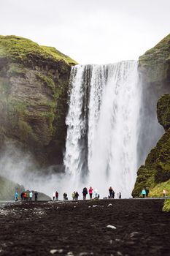
[[[105,196],[112,186],[131,196],[141,99],[137,65],[72,67],[64,165],[73,190],[93,186]]]

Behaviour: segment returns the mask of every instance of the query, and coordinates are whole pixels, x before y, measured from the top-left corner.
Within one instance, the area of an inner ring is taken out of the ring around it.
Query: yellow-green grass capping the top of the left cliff
[[[76,61],[53,47],[40,46],[36,42],[17,36],[0,36],[0,58],[12,61],[25,61],[28,56],[39,56],[42,59],[63,60],[67,64],[77,64]]]

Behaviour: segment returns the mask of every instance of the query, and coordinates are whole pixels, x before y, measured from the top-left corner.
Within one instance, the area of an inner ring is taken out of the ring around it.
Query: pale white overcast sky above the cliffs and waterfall
[[[138,59],[170,33],[170,0],[0,0],[0,34],[54,46],[80,64]]]

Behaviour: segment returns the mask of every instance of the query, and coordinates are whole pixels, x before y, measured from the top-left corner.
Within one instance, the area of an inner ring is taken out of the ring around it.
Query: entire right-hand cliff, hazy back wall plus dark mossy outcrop
[[[170,34],[139,58],[142,75],[143,102],[142,127],[139,136],[139,167],[133,197],[143,187],[155,187],[170,179]],[[163,95],[165,94],[165,95]],[[162,96],[163,95],[163,96]],[[158,98],[160,98],[158,100]],[[158,104],[157,104],[158,102]],[[156,108],[157,116],[156,117]],[[165,129],[158,127],[158,121]],[[161,139],[158,141],[159,136]],[[149,136],[148,136],[149,135]],[[155,143],[158,141],[157,145]],[[152,148],[155,146],[155,148]],[[152,148],[147,158],[146,148]]]

